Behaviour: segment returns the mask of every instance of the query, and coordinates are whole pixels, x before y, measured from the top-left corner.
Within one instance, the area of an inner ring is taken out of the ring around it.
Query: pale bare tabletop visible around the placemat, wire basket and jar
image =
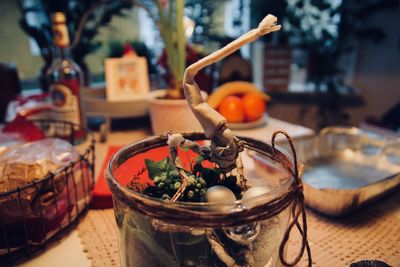
[[[95,177],[98,177],[104,157],[107,154],[110,145],[124,145],[151,135],[149,126],[146,123],[138,123],[131,129],[124,131],[113,131],[108,134],[105,143],[96,144]],[[313,130],[287,123],[275,118],[269,117],[267,124],[246,130],[235,130],[234,133],[240,136],[249,136],[264,142],[270,142],[271,136],[276,130],[284,130],[292,137],[299,137],[313,134]],[[97,135],[96,135],[97,137]],[[89,211],[90,212],[90,211]],[[19,266],[91,266],[91,261],[86,257],[84,247],[75,228],[67,233],[59,241],[54,242],[44,253],[20,264]]]

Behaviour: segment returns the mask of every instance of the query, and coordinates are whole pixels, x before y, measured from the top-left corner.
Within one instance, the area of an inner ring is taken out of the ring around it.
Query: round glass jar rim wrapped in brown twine
[[[205,137],[204,133],[183,133],[182,134],[185,138],[193,140],[193,141],[200,141],[200,140],[207,140]],[[243,200],[237,200],[235,202],[184,202],[184,201],[176,201],[176,202],[168,202],[166,200],[162,200],[159,198],[147,196],[138,192],[134,192],[132,190],[129,190],[125,186],[123,186],[119,181],[117,181],[116,177],[113,175],[113,172],[118,169],[119,166],[121,166],[126,160],[128,160],[131,157],[134,157],[135,155],[138,155],[140,153],[149,151],[154,148],[166,146],[168,135],[163,134],[160,136],[153,136],[150,138],[146,138],[141,141],[137,141],[128,145],[125,145],[123,148],[121,148],[114,156],[111,158],[109,161],[106,171],[105,171],[105,177],[107,180],[107,183],[110,187],[110,190],[113,194],[113,197],[116,196],[118,199],[123,200],[126,204],[128,205],[134,205],[136,208],[138,208],[139,212],[144,212],[146,211],[142,210],[143,208],[147,207],[147,205],[153,206],[157,209],[162,209],[166,212],[175,212],[175,211],[185,211],[185,210],[192,210],[195,214],[199,215],[201,218],[201,215],[227,215],[230,214],[232,215],[231,209],[227,209],[228,207],[238,207],[241,204],[243,204]],[[272,147],[262,141],[249,138],[249,137],[241,137],[238,136],[238,138],[243,141],[244,147],[250,150],[254,150],[257,153],[260,153],[263,156],[268,157],[269,159],[273,160],[274,162],[278,163],[278,165],[284,169],[287,170],[287,166],[282,165],[281,162],[278,160],[274,159],[275,154],[273,154]],[[277,148],[277,147],[276,147]],[[275,150],[275,153],[279,154],[280,159],[285,159],[286,162],[292,163],[290,155],[283,150],[282,148],[277,148],[278,150]],[[245,200],[246,204],[252,204],[252,203],[259,203],[261,202],[260,200],[262,199],[275,199],[275,198],[280,198],[284,196],[285,194],[289,194],[292,190],[292,185],[295,183],[295,180],[290,172],[288,172],[288,177],[285,179],[285,181],[276,187],[274,186],[271,191],[250,197]],[[251,206],[251,205],[250,205]],[[213,207],[219,207],[219,209],[215,209]],[[221,207],[223,209],[221,209]],[[234,212],[235,213],[235,212]],[[240,211],[238,213],[241,213]],[[153,213],[151,213],[153,214]],[[149,215],[152,216],[152,215]],[[217,216],[218,217],[218,216]],[[212,219],[212,218],[211,218]]]

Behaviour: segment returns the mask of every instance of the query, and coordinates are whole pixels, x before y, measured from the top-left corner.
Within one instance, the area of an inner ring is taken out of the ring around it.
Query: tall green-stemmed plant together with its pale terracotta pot
[[[190,56],[193,52],[186,45],[183,25],[185,1],[154,0],[135,1],[135,3],[143,7],[153,19],[164,43],[164,53],[159,63],[165,63],[168,88],[154,90],[149,94],[153,133],[201,130],[200,124],[184,99],[182,89],[187,55]]]

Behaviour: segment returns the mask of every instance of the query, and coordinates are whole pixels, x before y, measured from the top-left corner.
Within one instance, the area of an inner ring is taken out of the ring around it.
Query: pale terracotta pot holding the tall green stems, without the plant
[[[159,135],[167,132],[193,132],[202,131],[200,123],[193,115],[186,99],[171,100],[161,99],[167,90],[156,90],[149,94],[149,110],[153,134]],[[207,93],[202,91],[203,98]]]

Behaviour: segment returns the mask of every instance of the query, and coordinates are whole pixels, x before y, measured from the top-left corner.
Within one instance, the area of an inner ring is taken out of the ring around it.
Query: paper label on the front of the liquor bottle
[[[51,85],[50,94],[56,119],[80,124],[78,97],[63,84]]]

